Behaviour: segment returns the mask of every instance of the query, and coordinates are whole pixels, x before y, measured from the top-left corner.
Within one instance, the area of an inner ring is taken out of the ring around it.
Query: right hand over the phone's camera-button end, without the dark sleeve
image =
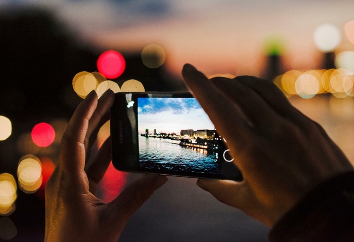
[[[208,79],[189,64],[182,73],[244,178],[198,180],[223,203],[273,226],[317,185],[353,170],[323,128],[274,84],[253,76]]]

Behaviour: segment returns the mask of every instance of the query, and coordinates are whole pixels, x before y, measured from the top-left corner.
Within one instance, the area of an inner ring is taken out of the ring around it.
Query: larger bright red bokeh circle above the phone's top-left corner
[[[103,52],[97,60],[97,68],[100,73],[110,79],[117,78],[125,70],[125,60],[116,51]]]

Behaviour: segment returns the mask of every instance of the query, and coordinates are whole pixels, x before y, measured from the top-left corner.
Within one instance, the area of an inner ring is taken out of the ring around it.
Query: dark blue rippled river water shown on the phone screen
[[[153,170],[219,174],[215,153],[182,147],[179,140],[139,136],[140,167]]]

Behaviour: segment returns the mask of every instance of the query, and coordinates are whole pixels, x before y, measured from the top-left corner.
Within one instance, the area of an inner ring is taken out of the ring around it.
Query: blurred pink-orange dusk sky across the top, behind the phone
[[[323,23],[343,26],[353,20],[354,1],[173,1],[173,0],[27,0],[0,1],[0,9],[45,8],[72,27],[81,43],[101,49],[139,52],[160,45],[166,67],[181,76],[184,63],[207,75],[257,75],[264,68],[264,43],[277,38],[284,65],[297,56],[320,65],[313,32]],[[314,66],[319,68],[320,66]]]

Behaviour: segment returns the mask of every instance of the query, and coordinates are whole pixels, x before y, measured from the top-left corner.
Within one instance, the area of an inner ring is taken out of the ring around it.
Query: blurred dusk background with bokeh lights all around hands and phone
[[[181,70],[274,82],[354,164],[353,1],[0,0],[0,241],[42,241],[44,187],[87,93],[186,91]],[[109,135],[106,124],[97,146]],[[109,167],[110,201],[139,175]],[[171,177],[119,241],[267,241],[269,229]]]

